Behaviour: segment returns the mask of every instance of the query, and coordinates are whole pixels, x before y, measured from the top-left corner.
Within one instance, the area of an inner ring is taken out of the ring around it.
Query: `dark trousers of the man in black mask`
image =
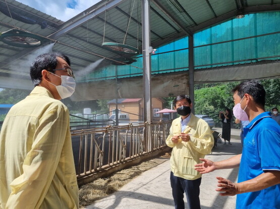
[[[170,174],[172,195],[176,209],[185,209],[184,192],[186,192],[187,201],[190,209],[200,209],[199,186],[201,178],[187,180]]]

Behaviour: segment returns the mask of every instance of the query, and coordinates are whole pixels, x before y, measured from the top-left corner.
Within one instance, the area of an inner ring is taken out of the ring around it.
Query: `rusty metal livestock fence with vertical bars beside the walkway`
[[[77,179],[158,150],[171,122],[72,131]]]

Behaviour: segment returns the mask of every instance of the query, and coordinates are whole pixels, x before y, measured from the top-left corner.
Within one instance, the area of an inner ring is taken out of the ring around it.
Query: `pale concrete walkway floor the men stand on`
[[[213,130],[221,133],[221,129]],[[232,145],[218,144],[213,148],[212,153],[205,158],[212,161],[228,159],[242,152],[240,143],[240,130],[232,129]],[[89,205],[87,209],[172,209],[174,201],[170,186],[170,160],[169,158],[156,158],[153,161],[161,161],[158,166],[145,171],[136,177],[121,190]],[[221,176],[236,182],[238,168],[227,170],[216,170],[204,174],[200,185],[201,209],[234,209],[236,206],[236,196],[219,196],[215,191],[217,180],[216,176]],[[188,208],[187,202],[185,207]]]

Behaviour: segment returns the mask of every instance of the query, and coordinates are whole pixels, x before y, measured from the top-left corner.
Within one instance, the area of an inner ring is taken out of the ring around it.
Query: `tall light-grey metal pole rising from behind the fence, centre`
[[[150,1],[142,0],[144,122],[151,122]]]

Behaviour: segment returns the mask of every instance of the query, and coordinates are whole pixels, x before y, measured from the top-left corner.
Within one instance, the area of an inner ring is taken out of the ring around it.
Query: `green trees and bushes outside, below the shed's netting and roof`
[[[260,80],[266,90],[265,111],[271,111],[276,107],[280,109],[280,79]],[[195,113],[208,115],[215,121],[215,126],[220,126],[218,118],[219,111],[229,108],[233,110],[233,93],[232,89],[240,82],[225,83],[208,83],[195,85]],[[24,99],[30,90],[9,89],[0,91],[0,103],[15,104]],[[171,103],[175,97],[164,97],[164,108],[171,108]],[[92,101],[72,101],[70,98],[62,100],[69,108],[71,114],[83,113],[84,108],[91,108],[93,113],[107,113],[109,100],[92,100]],[[0,116],[3,121],[6,115]],[[234,120],[233,120],[234,121]],[[233,122],[234,123],[234,122]]]

